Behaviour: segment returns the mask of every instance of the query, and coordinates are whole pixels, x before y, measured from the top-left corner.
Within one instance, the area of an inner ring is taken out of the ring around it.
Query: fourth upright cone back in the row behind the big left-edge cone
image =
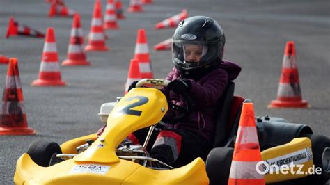
[[[116,8],[113,0],[108,0],[104,16],[104,29],[119,29],[116,17]]]

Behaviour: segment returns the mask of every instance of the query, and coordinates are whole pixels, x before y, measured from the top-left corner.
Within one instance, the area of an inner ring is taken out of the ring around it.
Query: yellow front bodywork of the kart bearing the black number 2
[[[159,122],[168,104],[166,97],[154,88],[134,88],[116,104],[103,134],[88,149],[73,159],[54,166],[41,167],[23,154],[17,161],[15,184],[208,184],[202,159],[173,170],[152,170],[132,161],[118,159],[116,147],[125,137]],[[61,145],[63,153],[77,154],[91,134]]]

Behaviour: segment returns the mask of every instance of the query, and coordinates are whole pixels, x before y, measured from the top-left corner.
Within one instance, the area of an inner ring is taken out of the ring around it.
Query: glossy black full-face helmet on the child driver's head
[[[172,60],[180,73],[201,76],[220,65],[225,35],[217,21],[194,16],[178,25],[172,38]]]

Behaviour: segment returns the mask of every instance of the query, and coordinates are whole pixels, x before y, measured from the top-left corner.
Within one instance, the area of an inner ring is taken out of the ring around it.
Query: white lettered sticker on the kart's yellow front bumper
[[[70,173],[97,173],[106,174],[111,166],[103,166],[98,164],[84,164],[73,166]]]

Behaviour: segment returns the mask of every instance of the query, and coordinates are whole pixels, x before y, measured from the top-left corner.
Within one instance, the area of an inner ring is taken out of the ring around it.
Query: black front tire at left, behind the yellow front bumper
[[[62,154],[62,150],[57,143],[39,140],[30,145],[27,154],[39,166],[47,167],[50,166],[52,156]]]

